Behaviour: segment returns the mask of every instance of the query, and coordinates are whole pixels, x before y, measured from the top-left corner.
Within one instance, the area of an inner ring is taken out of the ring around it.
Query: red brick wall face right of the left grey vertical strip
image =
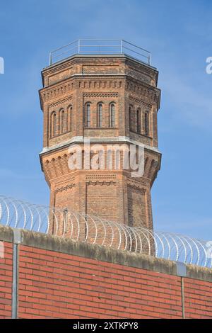
[[[185,280],[187,317],[212,317],[210,285]],[[196,306],[194,298],[200,300]],[[18,315],[20,318],[182,318],[181,278],[20,246]]]

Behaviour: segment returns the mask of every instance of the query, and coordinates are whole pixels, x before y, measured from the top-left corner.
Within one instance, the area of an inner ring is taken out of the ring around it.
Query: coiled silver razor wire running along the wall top
[[[79,242],[144,253],[187,264],[212,267],[211,242],[172,232],[129,227],[100,218],[0,196],[0,223],[9,227],[69,237]]]

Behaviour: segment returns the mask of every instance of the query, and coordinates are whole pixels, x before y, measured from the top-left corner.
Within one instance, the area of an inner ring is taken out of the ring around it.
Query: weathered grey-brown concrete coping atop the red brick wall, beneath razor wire
[[[0,225],[0,240],[174,276],[212,282],[212,269]]]

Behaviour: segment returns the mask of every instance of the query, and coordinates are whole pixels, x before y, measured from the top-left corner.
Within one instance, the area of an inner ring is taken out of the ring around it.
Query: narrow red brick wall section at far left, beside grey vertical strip
[[[4,242],[4,258],[0,257],[0,318],[11,318],[13,275],[12,244]]]

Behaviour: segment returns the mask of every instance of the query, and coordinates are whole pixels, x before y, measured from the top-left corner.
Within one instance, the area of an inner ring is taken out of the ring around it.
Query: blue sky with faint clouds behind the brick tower
[[[155,229],[212,239],[211,16],[210,0],[1,0],[0,193],[49,203],[37,92],[48,52],[78,38],[123,38],[150,50],[160,72]]]

